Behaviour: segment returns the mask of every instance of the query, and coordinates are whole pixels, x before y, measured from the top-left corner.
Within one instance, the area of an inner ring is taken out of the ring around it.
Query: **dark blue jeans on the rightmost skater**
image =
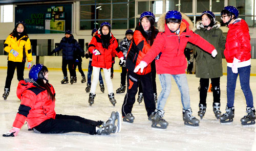
[[[250,89],[250,71],[251,66],[238,68],[238,73],[233,73],[232,68],[227,67],[227,107],[234,106],[234,90],[237,85],[237,78],[239,74],[241,89],[244,92],[247,107],[253,107],[253,98]]]

